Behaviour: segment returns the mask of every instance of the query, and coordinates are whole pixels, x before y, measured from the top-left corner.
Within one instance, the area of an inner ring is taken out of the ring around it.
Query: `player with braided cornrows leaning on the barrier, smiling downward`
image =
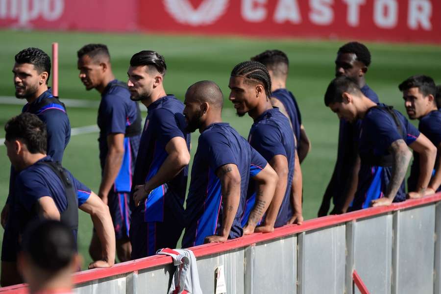
[[[271,96],[271,79],[267,68],[257,61],[244,61],[231,72],[229,99],[234,104],[239,116],[246,113],[254,120],[248,135],[248,142],[259,152],[278,175],[274,197],[267,210],[265,219],[255,231],[269,232],[274,227],[287,223],[301,223],[301,172],[294,171],[298,162],[293,130],[288,118],[278,108],[273,108]],[[300,175],[294,178],[293,176]],[[298,179],[300,179],[298,181]],[[294,188],[294,189],[292,189]],[[245,214],[248,204],[253,202],[254,195],[247,196]],[[252,207],[252,206],[251,206]],[[246,215],[244,220],[246,220]]]

